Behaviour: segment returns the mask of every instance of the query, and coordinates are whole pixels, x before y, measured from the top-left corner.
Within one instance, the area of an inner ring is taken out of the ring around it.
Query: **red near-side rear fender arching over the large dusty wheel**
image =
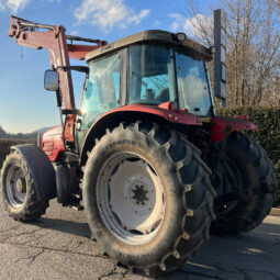
[[[99,117],[87,131],[81,153],[80,165],[87,160],[87,152],[94,146],[94,139],[101,138],[107,128],[113,128],[121,122],[149,121],[156,123],[178,123],[186,125],[202,125],[200,117],[189,113],[187,110],[171,109],[173,102],[166,102],[156,105],[130,104],[125,105]]]

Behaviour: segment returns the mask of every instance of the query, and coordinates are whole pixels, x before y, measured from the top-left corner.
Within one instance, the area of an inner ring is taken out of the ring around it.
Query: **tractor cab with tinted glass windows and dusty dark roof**
[[[92,51],[86,58],[82,135],[101,115],[130,104],[175,102],[177,109],[197,116],[214,114],[206,66],[211,52],[183,33],[145,31]]]

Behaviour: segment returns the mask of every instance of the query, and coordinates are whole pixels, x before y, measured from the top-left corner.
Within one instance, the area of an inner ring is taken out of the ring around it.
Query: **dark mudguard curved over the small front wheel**
[[[46,154],[33,144],[12,146],[11,149],[18,150],[26,161],[38,200],[48,202],[54,199],[56,197],[56,175]]]

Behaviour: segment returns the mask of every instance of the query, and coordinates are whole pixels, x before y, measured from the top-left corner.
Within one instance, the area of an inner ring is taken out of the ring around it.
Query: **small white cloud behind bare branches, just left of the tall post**
[[[193,18],[186,18],[179,13],[170,13],[169,18],[173,19],[171,30],[173,32],[183,31],[191,37],[200,37],[201,30],[211,30],[213,18],[198,13]]]

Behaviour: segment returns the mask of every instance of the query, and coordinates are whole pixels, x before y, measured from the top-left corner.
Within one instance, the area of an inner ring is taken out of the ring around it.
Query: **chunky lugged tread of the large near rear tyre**
[[[152,264],[148,267],[131,267],[133,271],[142,270],[145,275],[157,276],[161,272],[173,270],[187,259],[198,254],[202,243],[209,238],[211,221],[215,217],[213,199],[216,193],[210,181],[210,168],[200,158],[200,150],[193,144],[188,142],[184,135],[171,131],[168,127],[160,126],[157,123],[150,124],[136,122],[132,124],[121,123],[111,132],[112,138],[116,132],[124,134],[127,130],[137,131],[147,143],[149,141],[157,142],[158,153],[165,155],[166,160],[169,160],[170,170],[172,170],[172,173],[179,178],[182,192],[182,195],[178,198],[182,200],[184,205],[183,219],[180,226],[181,229],[180,234],[176,237],[173,245],[170,247],[170,251],[160,257],[157,262]],[[108,135],[103,135],[100,143],[102,143],[105,137],[108,137]],[[184,146],[184,155],[172,155],[176,150],[173,147],[176,146]],[[93,150],[94,148],[91,153],[93,153]],[[172,158],[177,156],[182,159],[175,161]],[[195,178],[186,180],[186,178],[181,176],[183,172],[182,168],[186,166],[191,167],[193,165],[198,168]],[[87,168],[89,168],[88,165],[86,165],[86,172]],[[194,192],[199,193],[202,199],[195,208],[190,209],[184,197]],[[193,219],[194,216],[195,219]],[[195,223],[193,221],[195,221]],[[193,224],[193,227],[195,227],[195,225],[199,226],[195,228],[194,233],[190,234],[184,229],[186,223]],[[94,236],[94,238],[99,239],[98,236]]]

